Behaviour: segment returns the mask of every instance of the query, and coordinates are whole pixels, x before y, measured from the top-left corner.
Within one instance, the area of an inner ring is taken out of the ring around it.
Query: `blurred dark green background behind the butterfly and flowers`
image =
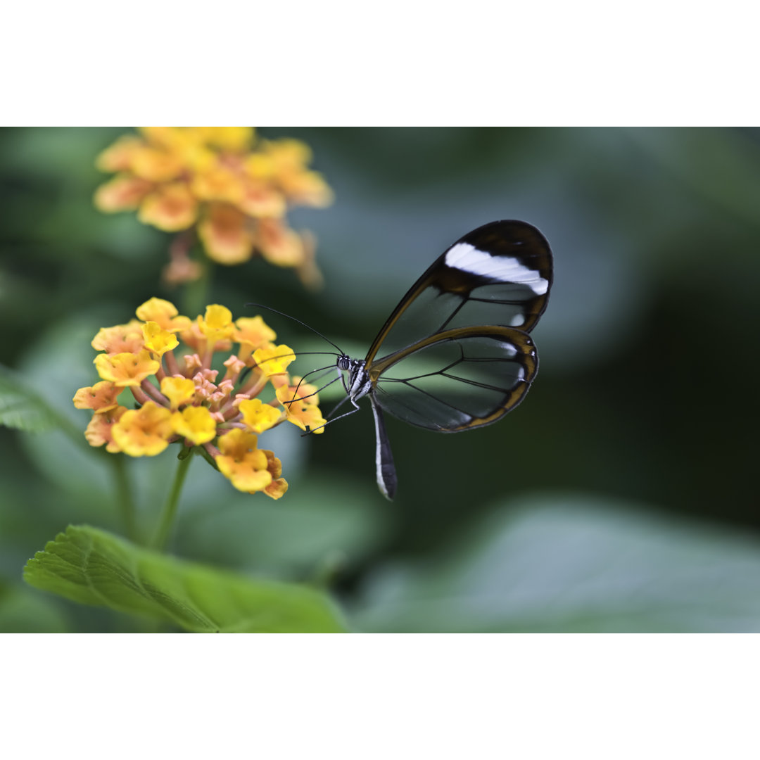
[[[106,179],[94,159],[125,131],[0,131],[0,362],[83,432],[89,414],[71,397],[97,380],[98,328],[150,296],[181,301],[160,284],[171,236],[92,204]],[[362,631],[760,630],[760,131],[260,134],[305,141],[334,189],[328,209],[289,214],[317,236],[325,287],[306,291],[259,259],[217,266],[208,302],[236,318],[255,313],[246,302],[270,304],[363,356],[448,245],[525,220],[555,258],[533,332],[540,372],[525,403],[485,429],[437,435],[388,420],[392,503],[375,486],[368,404],[324,435],[267,434],[290,483],[278,502],[198,461],[173,553],[331,578]],[[330,349],[264,318],[296,353]],[[320,366],[310,358],[302,371]],[[173,457],[129,465],[151,526]],[[150,629],[21,581],[69,523],[121,532],[109,476],[63,435],[0,429],[0,630]]]

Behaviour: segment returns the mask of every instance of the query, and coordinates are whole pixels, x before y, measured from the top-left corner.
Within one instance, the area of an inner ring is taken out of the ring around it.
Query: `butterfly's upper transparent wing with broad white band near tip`
[[[366,363],[452,328],[498,325],[530,332],[552,283],[549,243],[530,224],[492,222],[437,258],[378,333]]]

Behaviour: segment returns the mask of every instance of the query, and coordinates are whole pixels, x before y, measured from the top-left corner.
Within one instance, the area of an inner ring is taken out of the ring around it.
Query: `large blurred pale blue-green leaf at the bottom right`
[[[393,632],[760,630],[760,543],[556,496],[502,502],[432,562],[376,578],[354,622]]]

